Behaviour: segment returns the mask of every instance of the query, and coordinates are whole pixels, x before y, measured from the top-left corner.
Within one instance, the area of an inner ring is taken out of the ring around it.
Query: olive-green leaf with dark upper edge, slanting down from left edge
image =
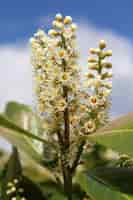
[[[44,143],[47,142],[44,139],[28,132],[27,130],[22,129],[2,115],[0,115],[0,135],[13,145],[16,145],[19,150],[30,155],[31,158],[41,161],[41,155],[36,151],[29,138]]]

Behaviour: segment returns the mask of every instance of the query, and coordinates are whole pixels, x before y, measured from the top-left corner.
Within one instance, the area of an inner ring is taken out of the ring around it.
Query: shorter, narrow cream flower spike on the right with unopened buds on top
[[[89,89],[88,117],[85,123],[86,133],[94,132],[108,120],[110,108],[110,94],[112,92],[112,64],[105,61],[112,56],[112,51],[104,51],[106,42],[101,40],[99,48],[90,49],[94,57],[88,58],[89,72],[86,73],[86,86]]]

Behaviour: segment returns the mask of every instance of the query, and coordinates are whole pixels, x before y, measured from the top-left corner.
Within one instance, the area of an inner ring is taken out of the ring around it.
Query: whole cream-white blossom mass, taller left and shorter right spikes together
[[[105,41],[101,40],[98,49],[90,53],[98,59],[89,58],[91,71],[87,73],[87,87],[81,88],[78,53],[75,48],[76,24],[70,16],[57,14],[53,28],[48,34],[39,30],[31,38],[32,65],[36,80],[37,105],[44,119],[44,129],[48,133],[63,131],[63,114],[69,112],[71,135],[94,132],[107,119],[112,77],[106,70],[112,67],[104,59],[111,51],[104,52]]]

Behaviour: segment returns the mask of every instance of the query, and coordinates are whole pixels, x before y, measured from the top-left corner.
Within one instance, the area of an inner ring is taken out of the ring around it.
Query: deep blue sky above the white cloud
[[[40,26],[43,17],[57,12],[108,28],[133,40],[132,0],[1,0],[0,43],[27,40]]]

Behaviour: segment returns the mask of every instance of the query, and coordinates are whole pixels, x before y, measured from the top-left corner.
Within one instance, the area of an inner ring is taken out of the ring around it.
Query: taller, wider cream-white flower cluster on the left
[[[55,131],[62,123],[63,111],[69,104],[64,97],[64,88],[70,95],[78,88],[76,28],[70,16],[63,18],[57,14],[48,35],[39,30],[30,39],[38,111],[45,118],[47,131]]]

